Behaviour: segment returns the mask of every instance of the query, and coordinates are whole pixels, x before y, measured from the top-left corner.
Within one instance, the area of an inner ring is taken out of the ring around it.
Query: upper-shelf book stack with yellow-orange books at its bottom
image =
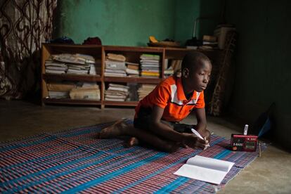
[[[160,77],[160,56],[141,55],[141,77]]]

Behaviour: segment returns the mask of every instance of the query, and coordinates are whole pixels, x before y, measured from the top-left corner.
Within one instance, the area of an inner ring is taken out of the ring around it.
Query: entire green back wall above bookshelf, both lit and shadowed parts
[[[150,35],[185,44],[193,36],[213,34],[221,0],[63,0],[58,1],[53,37],[67,36],[82,44],[100,37],[104,45],[145,46]]]

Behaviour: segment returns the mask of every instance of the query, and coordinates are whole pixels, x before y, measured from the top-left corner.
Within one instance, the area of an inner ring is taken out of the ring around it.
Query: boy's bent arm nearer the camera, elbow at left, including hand
[[[153,112],[151,116],[150,130],[155,134],[167,138],[171,141],[176,141],[180,143],[186,143],[186,145],[191,148],[205,148],[206,143],[204,140],[201,140],[194,136],[193,134],[181,134],[177,131],[174,131],[169,125],[161,122],[164,109],[155,105],[153,107]]]

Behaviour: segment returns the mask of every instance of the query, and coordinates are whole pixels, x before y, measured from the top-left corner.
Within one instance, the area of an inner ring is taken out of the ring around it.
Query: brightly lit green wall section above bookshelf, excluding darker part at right
[[[145,46],[148,37],[174,38],[175,0],[58,1],[54,37],[76,44],[100,37],[104,45]]]

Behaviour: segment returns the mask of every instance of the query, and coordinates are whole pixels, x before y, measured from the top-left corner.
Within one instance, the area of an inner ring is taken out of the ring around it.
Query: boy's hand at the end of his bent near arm
[[[205,150],[207,147],[209,147],[209,141],[207,141],[206,139],[198,138],[198,136],[195,136],[195,134],[183,133],[183,135],[183,143],[185,145],[188,145],[190,148],[200,148],[202,150]]]

